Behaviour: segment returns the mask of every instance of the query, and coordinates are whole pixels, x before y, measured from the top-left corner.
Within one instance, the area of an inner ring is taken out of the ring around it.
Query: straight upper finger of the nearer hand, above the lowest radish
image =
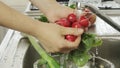
[[[63,35],[68,35],[68,34],[71,34],[71,35],[75,35],[75,36],[79,36],[81,34],[83,34],[84,30],[81,29],[81,28],[66,28],[66,27],[63,27],[61,29],[61,33]]]

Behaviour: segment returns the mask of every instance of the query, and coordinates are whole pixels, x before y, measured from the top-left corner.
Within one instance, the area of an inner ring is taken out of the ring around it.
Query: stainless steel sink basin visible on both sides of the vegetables
[[[100,47],[93,48],[91,51],[103,59],[106,59],[120,68],[120,38],[102,37],[103,44]],[[24,57],[23,68],[33,68],[33,64],[40,58],[32,46],[29,47]]]

